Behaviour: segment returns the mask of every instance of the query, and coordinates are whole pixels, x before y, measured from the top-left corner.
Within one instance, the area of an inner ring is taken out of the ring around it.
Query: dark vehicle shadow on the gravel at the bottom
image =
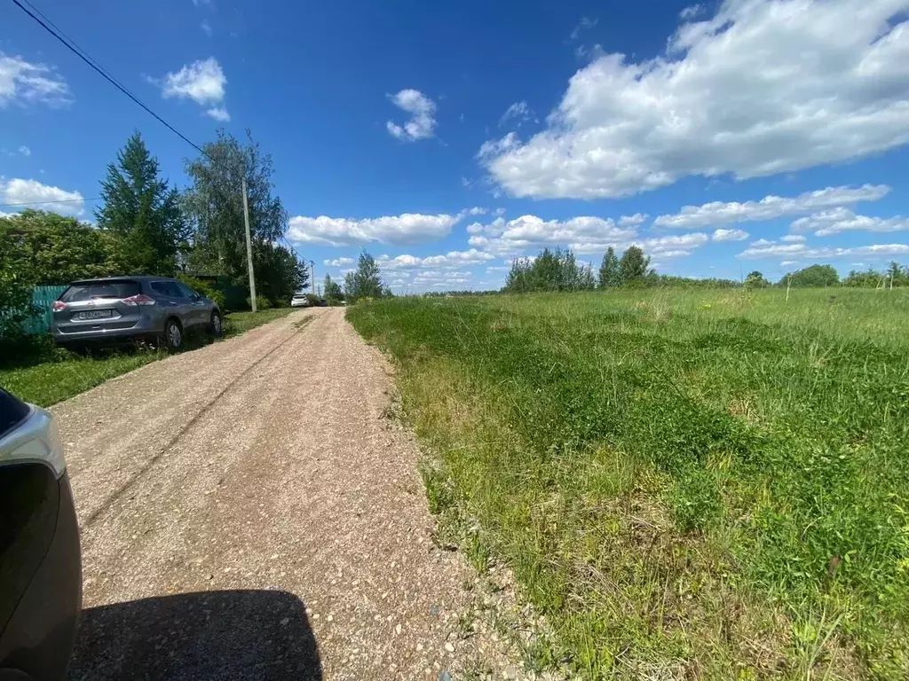
[[[69,676],[321,681],[322,666],[293,594],[205,591],[84,610]]]

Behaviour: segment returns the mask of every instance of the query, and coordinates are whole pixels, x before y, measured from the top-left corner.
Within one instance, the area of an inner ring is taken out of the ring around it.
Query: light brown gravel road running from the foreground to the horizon
[[[431,541],[391,388],[328,309],[57,405],[85,583],[71,677],[462,678],[474,576]]]

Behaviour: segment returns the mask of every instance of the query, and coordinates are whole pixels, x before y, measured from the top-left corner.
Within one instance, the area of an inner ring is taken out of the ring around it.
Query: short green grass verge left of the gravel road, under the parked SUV
[[[290,311],[291,308],[276,308],[255,314],[232,312],[225,317],[225,338],[285,317]],[[207,338],[187,339],[184,351],[210,341]],[[47,407],[166,356],[165,350],[154,348],[106,350],[83,355],[55,348],[49,339],[42,339],[31,351],[5,358],[0,363],[0,386],[22,400]]]

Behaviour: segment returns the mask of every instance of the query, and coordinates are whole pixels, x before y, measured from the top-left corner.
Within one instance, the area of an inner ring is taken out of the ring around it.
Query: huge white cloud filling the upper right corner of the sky
[[[593,199],[893,149],[909,142],[907,9],[724,0],[653,59],[598,57],[572,76],[544,132],[489,141],[481,161],[516,196]]]

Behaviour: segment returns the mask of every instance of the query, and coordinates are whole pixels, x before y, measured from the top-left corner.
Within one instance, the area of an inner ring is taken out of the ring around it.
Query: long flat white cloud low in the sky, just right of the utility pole
[[[415,212],[364,219],[297,215],[290,219],[287,238],[292,242],[322,243],[326,246],[431,242],[451,232],[452,227],[461,219],[461,215],[424,215]]]

